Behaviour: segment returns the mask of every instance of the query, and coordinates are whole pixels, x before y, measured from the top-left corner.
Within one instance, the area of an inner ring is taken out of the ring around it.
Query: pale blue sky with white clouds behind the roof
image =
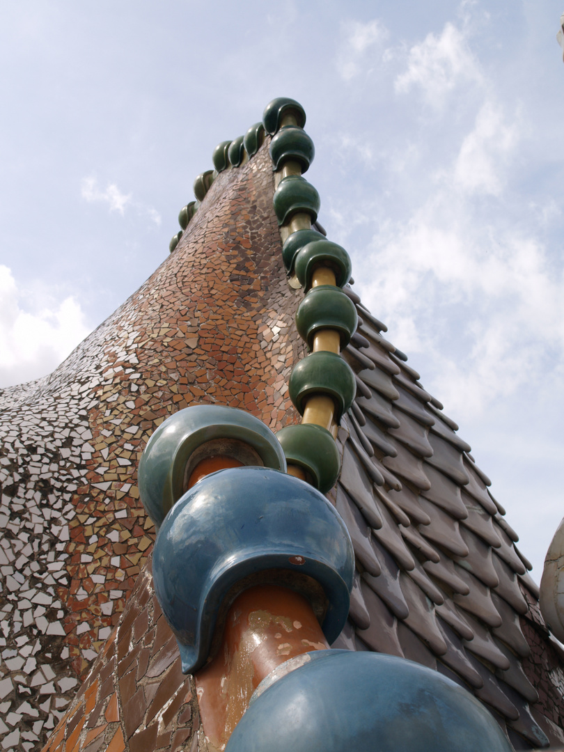
[[[214,147],[293,97],[320,222],[540,581],[564,514],[559,2],[0,2],[0,387],[135,292]]]

